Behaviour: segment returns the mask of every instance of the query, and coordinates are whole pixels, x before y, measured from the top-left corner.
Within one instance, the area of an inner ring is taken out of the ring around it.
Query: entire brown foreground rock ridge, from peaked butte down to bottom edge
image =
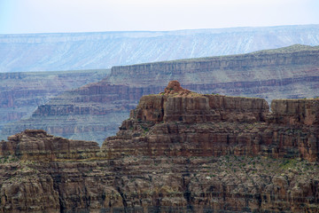
[[[0,212],[317,212],[319,99],[200,94],[171,81],[97,142],[0,142]]]

